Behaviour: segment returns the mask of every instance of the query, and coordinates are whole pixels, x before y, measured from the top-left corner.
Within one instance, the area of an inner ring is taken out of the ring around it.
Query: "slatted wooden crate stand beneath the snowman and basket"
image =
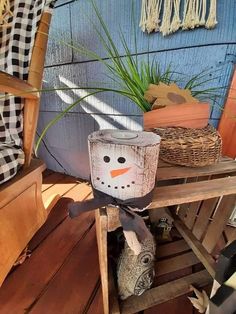
[[[107,233],[114,230],[114,212],[110,219],[110,209],[98,209],[96,228],[104,313],[136,313],[188,293],[191,284],[203,287],[212,283],[215,256],[227,243],[224,231],[235,204],[234,160],[223,158],[216,165],[202,168],[160,162],[150,210],[171,208],[174,227],[182,239],[157,246],[154,287],[122,302],[118,302],[113,274],[108,267]],[[181,271],[186,267],[190,270]],[[166,282],[165,276],[170,273],[173,281]]]

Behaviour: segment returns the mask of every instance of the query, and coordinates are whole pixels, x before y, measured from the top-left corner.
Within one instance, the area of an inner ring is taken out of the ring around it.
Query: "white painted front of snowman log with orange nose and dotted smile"
[[[133,146],[90,147],[94,188],[123,200],[142,196],[144,161],[138,155]]]

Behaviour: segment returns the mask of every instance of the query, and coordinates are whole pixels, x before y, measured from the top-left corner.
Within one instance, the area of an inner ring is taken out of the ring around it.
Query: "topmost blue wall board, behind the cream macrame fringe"
[[[236,3],[234,0],[218,1],[218,24],[214,30],[195,29],[193,31],[180,31],[172,36],[163,37],[161,34],[147,35],[138,27],[141,1],[103,0],[96,1],[104,18],[109,32],[113,35],[114,42],[120,54],[124,54],[119,38],[119,28],[123,30],[125,39],[131,51],[135,53],[134,28],[132,21],[132,2],[134,3],[134,22],[137,33],[137,51],[139,53],[149,51],[164,51],[183,47],[197,47],[218,43],[235,43],[235,19]],[[100,30],[100,25],[91,8],[90,1],[75,1],[71,3],[72,40],[88,46],[102,56],[106,56],[102,49],[102,43],[94,25]],[[216,50],[216,49],[215,49]],[[75,60],[84,61],[85,58],[75,54]]]

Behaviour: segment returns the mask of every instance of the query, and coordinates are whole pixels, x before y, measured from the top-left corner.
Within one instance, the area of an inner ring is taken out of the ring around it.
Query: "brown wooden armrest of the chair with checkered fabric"
[[[0,71],[0,91],[28,99],[38,99],[39,93],[29,83]]]

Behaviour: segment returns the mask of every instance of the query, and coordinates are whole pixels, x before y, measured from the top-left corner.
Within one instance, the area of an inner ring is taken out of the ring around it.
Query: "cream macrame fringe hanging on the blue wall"
[[[139,26],[143,32],[163,36],[178,29],[212,29],[217,24],[216,7],[216,0],[142,0]]]

